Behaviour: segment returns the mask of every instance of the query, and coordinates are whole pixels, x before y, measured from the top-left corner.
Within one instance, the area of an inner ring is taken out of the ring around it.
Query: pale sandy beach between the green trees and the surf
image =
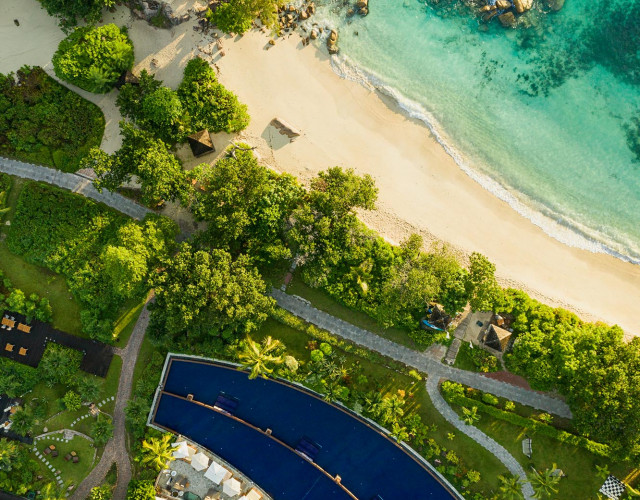
[[[174,10],[191,5],[176,1]],[[0,72],[23,64],[39,64],[51,72],[51,56],[64,37],[55,20],[35,0],[5,0],[3,7]],[[20,27],[14,18],[20,19]],[[449,243],[461,255],[481,252],[496,264],[503,285],[640,335],[640,266],[547,236],[467,176],[423,124],[404,116],[388,99],[339,78],[322,50],[303,47],[297,36],[268,49],[267,36],[252,32],[225,38],[221,57],[210,38],[193,30],[193,21],[160,30],[122,8],[104,20],[129,27],[136,71],[156,71],[172,87],[194,55],[215,64],[220,81],[248,104],[252,121],[241,139],[257,147],[265,164],[302,181],[335,165],[371,174],[380,189],[378,210],[363,214],[363,220],[389,240],[399,242],[418,232],[427,242]],[[90,99],[105,111],[103,147],[113,151],[120,119],[115,92]],[[269,126],[274,117],[303,136],[290,144]],[[228,140],[216,137],[216,148]]]

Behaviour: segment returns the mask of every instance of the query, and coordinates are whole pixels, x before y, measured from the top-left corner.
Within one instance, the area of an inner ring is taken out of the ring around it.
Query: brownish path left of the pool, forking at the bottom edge
[[[144,332],[149,325],[149,311],[147,306],[152,300],[150,294],[147,298],[140,317],[133,328],[127,347],[122,350],[122,372],[116,395],[116,406],[113,418],[113,438],[107,443],[102,453],[100,462],[91,473],[76,488],[71,500],[85,500],[94,486],[99,486],[104,481],[111,464],[118,466],[118,483],[113,491],[113,500],[124,500],[127,494],[127,485],[131,480],[131,462],[127,452],[127,433],[124,423],[124,408],[131,398],[131,386],[133,384],[133,370],[144,338]]]

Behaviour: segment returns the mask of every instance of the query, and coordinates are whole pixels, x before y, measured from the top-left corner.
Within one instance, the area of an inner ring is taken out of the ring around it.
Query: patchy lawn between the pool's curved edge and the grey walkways
[[[266,336],[271,336],[281,340],[287,350],[298,360],[306,362],[309,360],[309,349],[307,344],[314,339],[299,330],[283,325],[273,319],[268,319],[262,328],[252,335],[254,340],[261,340]],[[463,459],[467,467],[480,472],[482,476],[482,490],[496,491],[498,485],[498,475],[506,473],[505,467],[487,450],[479,446],[475,441],[464,434],[458,432],[449,422],[447,422],[434,408],[424,383],[416,383],[415,379],[391,370],[381,364],[373,363],[367,359],[360,358],[354,354],[340,352],[346,358],[348,366],[359,363],[362,372],[366,375],[368,382],[361,387],[363,390],[378,390],[384,394],[393,394],[398,390],[404,390],[407,394],[413,392],[408,409],[415,409],[425,424],[435,424],[436,430],[430,434],[440,446],[444,446]],[[454,433],[455,438],[449,440],[447,435]],[[419,451],[419,450],[418,450]],[[472,487],[472,490],[478,490]]]

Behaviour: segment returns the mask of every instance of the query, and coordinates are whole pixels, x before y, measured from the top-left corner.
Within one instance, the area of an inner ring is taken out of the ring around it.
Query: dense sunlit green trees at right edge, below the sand
[[[581,434],[640,457],[640,339],[625,342],[618,326],[583,322],[518,290],[506,290],[496,307],[517,334],[507,368],[536,390],[566,396]]]

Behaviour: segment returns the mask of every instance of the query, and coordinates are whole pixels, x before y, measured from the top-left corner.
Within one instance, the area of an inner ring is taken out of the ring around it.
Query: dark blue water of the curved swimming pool
[[[359,499],[450,499],[420,462],[351,413],[306,391],[210,363],[173,359],[164,390],[213,405],[220,394],[239,401],[235,415],[295,448],[302,437],[320,445],[315,459]],[[155,422],[209,448],[273,493],[276,499],[347,498],[296,453],[233,419],[165,394]],[[242,427],[242,428],[241,428]],[[281,485],[286,485],[286,488]],[[334,490],[330,491],[331,486]]]

